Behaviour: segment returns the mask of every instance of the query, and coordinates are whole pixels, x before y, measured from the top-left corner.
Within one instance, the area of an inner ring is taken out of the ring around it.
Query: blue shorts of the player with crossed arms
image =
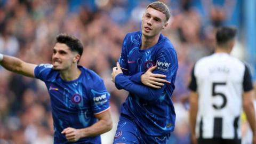
[[[160,136],[153,136],[153,135],[147,135],[144,132],[141,131],[141,129],[138,127],[135,122],[124,116],[121,115],[117,130],[114,138],[114,144],[148,144],[148,143],[167,143],[167,140],[169,139],[170,134],[166,135],[160,135]]]

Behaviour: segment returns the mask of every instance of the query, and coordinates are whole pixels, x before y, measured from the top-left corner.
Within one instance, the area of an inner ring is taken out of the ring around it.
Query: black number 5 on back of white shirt
[[[212,83],[212,96],[213,97],[220,96],[223,99],[223,103],[220,106],[217,106],[215,104],[212,105],[215,109],[222,109],[223,107],[225,107],[227,105],[227,97],[226,97],[226,95],[221,93],[221,92],[217,92],[215,90],[215,87],[217,87],[217,86],[225,86],[225,85],[226,85],[226,83]]]

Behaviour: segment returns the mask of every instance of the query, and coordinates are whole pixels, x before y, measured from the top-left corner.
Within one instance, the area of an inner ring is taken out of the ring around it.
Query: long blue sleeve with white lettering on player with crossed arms
[[[173,49],[165,49],[157,54],[156,59],[157,69],[153,71],[154,74],[166,75],[167,81],[175,79],[178,69],[177,54]],[[144,100],[156,100],[158,99],[166,85],[161,87],[161,89],[154,89],[141,84],[136,84],[132,82],[129,77],[124,74],[119,74],[115,78],[115,85],[117,89],[124,89],[131,93],[136,94],[138,97]]]

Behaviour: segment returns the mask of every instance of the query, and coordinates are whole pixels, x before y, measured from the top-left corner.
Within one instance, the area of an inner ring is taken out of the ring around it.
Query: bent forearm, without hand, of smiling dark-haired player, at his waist
[[[102,133],[108,132],[112,129],[112,121],[101,119],[97,123],[91,125],[90,127],[86,127],[84,129],[80,129],[82,133],[82,138],[86,137],[95,137]]]

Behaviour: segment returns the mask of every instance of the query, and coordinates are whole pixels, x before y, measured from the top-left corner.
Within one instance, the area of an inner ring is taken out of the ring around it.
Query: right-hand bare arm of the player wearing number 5
[[[253,106],[253,90],[244,92],[243,94],[243,109],[253,133],[253,144],[256,144],[256,119]]]

